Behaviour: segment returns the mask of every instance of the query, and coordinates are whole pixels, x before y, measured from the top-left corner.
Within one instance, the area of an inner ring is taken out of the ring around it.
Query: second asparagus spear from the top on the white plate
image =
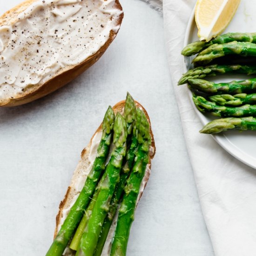
[[[249,42],[230,42],[225,44],[214,44],[204,49],[193,60],[194,65],[206,65],[216,58],[229,54],[240,56],[256,56],[256,44]]]

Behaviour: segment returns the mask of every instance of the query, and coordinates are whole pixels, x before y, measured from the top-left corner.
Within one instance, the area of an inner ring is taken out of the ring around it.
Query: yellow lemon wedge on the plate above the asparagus
[[[195,22],[200,40],[209,41],[229,25],[240,0],[197,0]]]

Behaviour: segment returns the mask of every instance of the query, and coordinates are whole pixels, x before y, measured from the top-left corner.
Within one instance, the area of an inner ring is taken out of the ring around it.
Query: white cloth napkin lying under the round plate
[[[177,86],[183,73],[180,52],[194,5],[195,0],[163,0],[170,74],[202,212],[216,256],[256,256],[256,170],[229,155],[210,135],[198,133],[202,123],[188,89]]]

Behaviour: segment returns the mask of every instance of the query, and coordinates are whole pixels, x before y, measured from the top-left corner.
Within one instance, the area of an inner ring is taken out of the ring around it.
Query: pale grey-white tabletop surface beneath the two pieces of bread
[[[19,1],[0,1],[1,12]],[[43,99],[0,109],[1,255],[45,255],[81,150],[108,105],[127,91],[147,109],[157,148],[127,255],[214,255],[170,82],[162,17],[139,0],[121,4],[121,30],[93,67]]]

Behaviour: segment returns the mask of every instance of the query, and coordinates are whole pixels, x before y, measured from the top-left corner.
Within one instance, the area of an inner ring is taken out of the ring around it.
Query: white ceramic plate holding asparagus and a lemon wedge
[[[256,32],[256,1],[251,0],[241,0],[240,6],[237,12],[230,22],[229,26],[223,32]],[[197,37],[197,27],[195,25],[195,15],[192,13],[189,24],[187,27],[184,46],[189,43],[198,40]],[[191,66],[191,58],[184,57],[184,71],[187,72]],[[215,82],[226,82],[232,80],[243,80],[246,76],[243,75],[220,75],[213,78],[206,78],[207,80]],[[191,94],[192,98],[192,94]],[[191,99],[191,104],[194,102]],[[199,118],[201,119],[203,125],[212,121],[214,118],[211,116],[203,115],[196,108]],[[241,162],[256,168],[256,131],[229,131],[220,135],[213,135],[213,138],[228,151],[231,155],[239,159]]]

